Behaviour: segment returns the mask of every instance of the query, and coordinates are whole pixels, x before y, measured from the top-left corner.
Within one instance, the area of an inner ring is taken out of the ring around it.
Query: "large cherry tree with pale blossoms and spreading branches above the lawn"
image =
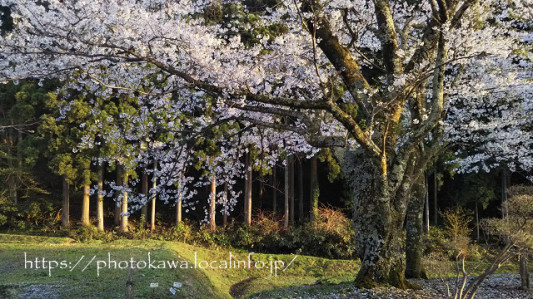
[[[506,103],[528,84],[507,17],[530,12],[527,1],[290,1],[254,14],[254,26],[283,33],[252,44],[239,34],[249,23],[206,19],[213,5],[246,12],[240,1],[0,4],[15,27],[0,39],[2,79],[77,75],[79,88],[104,98],[172,100],[192,112],[209,98],[214,117],[192,113],[196,132],[240,122],[270,129],[273,148],[335,149],[354,193],[364,286],[406,287],[409,195],[441,147],[446,112],[493,94]]]

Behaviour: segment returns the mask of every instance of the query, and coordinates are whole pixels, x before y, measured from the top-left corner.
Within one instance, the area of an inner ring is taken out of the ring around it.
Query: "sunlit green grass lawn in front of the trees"
[[[131,280],[135,298],[172,298],[169,288],[173,282],[183,283],[178,291],[181,298],[248,297],[288,287],[349,282],[358,269],[355,261],[270,254],[252,254],[251,261],[258,262],[258,267],[263,262],[264,268],[247,268],[243,262],[248,263],[249,253],[244,251],[232,251],[232,259],[241,261],[239,269],[220,269],[218,267],[229,259],[228,250],[156,240],[77,243],[70,238],[0,234],[0,298],[123,298],[128,270],[105,268],[100,269],[100,276],[97,276],[95,261],[108,261],[108,253],[111,260],[117,262],[132,258],[146,261],[148,252],[152,261],[179,261],[178,265],[189,268],[133,269]],[[33,262],[37,257],[45,257],[48,261],[65,260],[70,264],[65,269],[51,270],[49,276],[48,269],[25,268],[24,253]],[[82,256],[84,258],[74,267]],[[93,263],[82,271],[94,256]],[[194,268],[195,259],[197,267],[205,266],[202,261],[216,261],[215,269]],[[271,271],[271,265],[276,262],[285,270]],[[159,283],[159,287],[150,288],[150,283]]]

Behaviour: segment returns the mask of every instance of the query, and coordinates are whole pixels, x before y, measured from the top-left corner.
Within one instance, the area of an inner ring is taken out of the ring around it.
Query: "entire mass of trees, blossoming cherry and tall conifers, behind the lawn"
[[[527,1],[200,2],[0,1],[2,230],[527,261]]]

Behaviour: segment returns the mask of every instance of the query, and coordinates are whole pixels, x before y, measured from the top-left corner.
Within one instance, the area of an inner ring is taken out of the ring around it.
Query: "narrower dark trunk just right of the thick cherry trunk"
[[[407,278],[427,278],[422,264],[425,187],[423,178],[413,186],[407,207],[405,218],[405,276]]]

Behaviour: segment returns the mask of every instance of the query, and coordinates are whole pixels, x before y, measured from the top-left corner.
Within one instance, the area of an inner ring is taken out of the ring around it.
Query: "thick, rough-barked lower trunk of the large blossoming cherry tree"
[[[343,162],[353,190],[355,241],[361,260],[355,284],[405,289],[401,237],[410,189],[404,181],[410,175],[402,176],[398,185],[392,184],[387,180],[387,169],[376,160],[364,152],[347,152]]]

